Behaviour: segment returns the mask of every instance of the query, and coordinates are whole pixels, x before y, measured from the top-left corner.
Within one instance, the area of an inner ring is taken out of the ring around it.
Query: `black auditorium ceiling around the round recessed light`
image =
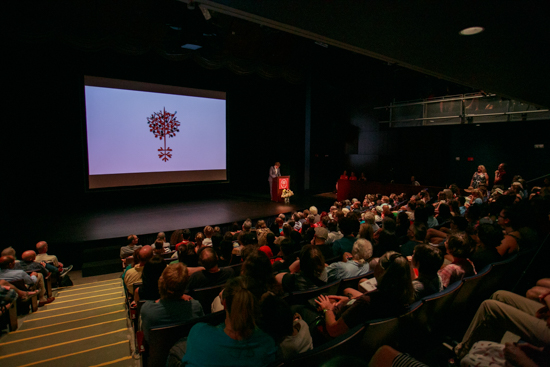
[[[384,62],[550,107],[548,1],[186,2],[19,1],[5,5],[4,27],[18,46],[156,52],[291,83],[304,79],[312,50],[336,47],[365,55],[365,65]],[[485,30],[459,35],[472,26]]]

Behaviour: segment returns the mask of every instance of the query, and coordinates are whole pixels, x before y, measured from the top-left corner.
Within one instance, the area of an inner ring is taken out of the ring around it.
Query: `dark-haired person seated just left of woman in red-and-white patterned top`
[[[443,265],[443,255],[437,247],[421,244],[414,248],[412,266],[418,270],[418,278],[413,280],[414,300],[443,290],[441,278],[437,273]]]

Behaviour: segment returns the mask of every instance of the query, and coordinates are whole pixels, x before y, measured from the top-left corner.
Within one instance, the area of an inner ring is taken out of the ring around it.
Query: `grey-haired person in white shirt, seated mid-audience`
[[[368,226],[370,229],[370,226]],[[372,229],[371,229],[372,230]],[[328,281],[352,278],[369,272],[369,261],[372,258],[370,241],[358,238],[350,253],[344,253],[342,261],[332,263],[327,268]]]

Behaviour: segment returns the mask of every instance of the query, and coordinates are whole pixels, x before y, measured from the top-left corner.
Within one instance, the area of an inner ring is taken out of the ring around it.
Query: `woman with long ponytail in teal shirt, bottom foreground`
[[[278,347],[257,327],[258,300],[243,277],[227,282],[222,303],[225,322],[193,326],[182,362],[186,366],[265,366],[273,362]]]

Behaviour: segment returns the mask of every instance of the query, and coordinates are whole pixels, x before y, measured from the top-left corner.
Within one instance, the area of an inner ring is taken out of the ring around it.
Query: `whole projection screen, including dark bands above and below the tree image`
[[[225,93],[95,77],[84,91],[89,188],[227,179]]]

